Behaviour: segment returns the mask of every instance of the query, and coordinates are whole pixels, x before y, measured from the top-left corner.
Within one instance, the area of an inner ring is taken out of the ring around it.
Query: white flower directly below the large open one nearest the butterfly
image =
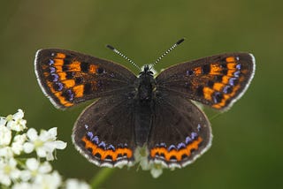
[[[23,170],[20,174],[20,178],[24,181],[36,178],[38,175],[47,174],[52,170],[50,163],[40,163],[35,158],[27,159],[26,167],[27,169]]]

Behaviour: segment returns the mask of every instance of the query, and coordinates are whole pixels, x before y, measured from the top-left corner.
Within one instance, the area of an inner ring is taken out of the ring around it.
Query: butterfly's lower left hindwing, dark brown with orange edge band
[[[73,127],[73,143],[98,166],[134,163],[133,100],[126,95],[99,99],[84,110]]]

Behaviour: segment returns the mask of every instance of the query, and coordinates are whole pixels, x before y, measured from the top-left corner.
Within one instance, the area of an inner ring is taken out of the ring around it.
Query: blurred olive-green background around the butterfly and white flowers
[[[168,65],[228,51],[256,57],[256,75],[233,108],[211,119],[213,144],[192,165],[165,170],[116,170],[102,188],[283,188],[282,1],[36,1],[0,3],[0,115],[23,109],[27,126],[58,127],[68,142],[53,162],[65,178],[88,180],[100,170],[73,147],[73,123],[86,104],[56,110],[34,75],[37,49],[73,49],[125,64],[104,48],[111,44],[134,59],[153,62],[173,42],[186,41],[164,57]],[[218,112],[206,110],[209,117]]]

